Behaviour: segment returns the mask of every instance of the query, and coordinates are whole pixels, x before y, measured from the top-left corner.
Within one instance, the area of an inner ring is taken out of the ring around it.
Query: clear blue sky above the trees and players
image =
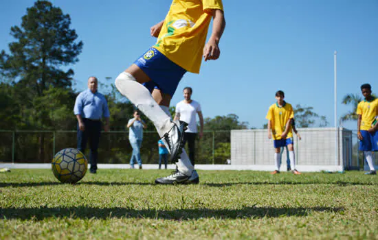
[[[89,75],[100,82],[124,71],[155,43],[149,29],[164,19],[168,0],[56,0],[71,16],[71,27],[84,43],[75,71],[75,88],[87,88]],[[0,1],[0,49],[14,39],[32,0]],[[204,117],[235,113],[249,127],[261,128],[274,93],[285,91],[295,106],[312,106],[333,126],[333,51],[337,50],[337,115],[341,104],[366,82],[378,93],[378,1],[267,0],[223,1],[227,27],[221,58],[203,62],[199,75],[187,73],[173,97],[192,86]],[[113,80],[109,81],[110,84]],[[99,89],[101,91],[101,89]],[[345,123],[355,129],[356,123]]]

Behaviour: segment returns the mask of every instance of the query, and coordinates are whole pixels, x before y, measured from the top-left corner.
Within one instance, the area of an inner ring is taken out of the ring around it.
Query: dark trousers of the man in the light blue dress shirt
[[[78,123],[78,150],[84,154],[89,139],[89,148],[91,149],[91,154],[89,155],[91,163],[90,170],[96,171],[98,159],[97,149],[101,134],[101,121],[93,121],[90,119],[82,119],[82,121],[84,122],[85,130],[80,131]]]

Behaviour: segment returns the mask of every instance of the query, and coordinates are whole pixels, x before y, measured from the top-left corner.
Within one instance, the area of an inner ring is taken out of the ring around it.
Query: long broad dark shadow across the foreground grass
[[[109,218],[142,218],[142,219],[243,219],[263,217],[307,216],[311,212],[339,212],[344,208],[312,207],[312,208],[273,208],[273,207],[245,207],[241,209],[174,209],[163,210],[135,210],[131,208],[91,208],[78,206],[72,208],[0,208],[0,219],[36,219],[49,217],[69,217],[73,219],[109,219]]]

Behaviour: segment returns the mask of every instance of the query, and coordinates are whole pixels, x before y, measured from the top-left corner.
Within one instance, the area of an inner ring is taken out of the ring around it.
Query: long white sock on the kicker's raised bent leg
[[[153,122],[159,136],[162,137],[172,128],[170,117],[153,99],[148,89],[137,82],[133,75],[122,72],[115,79],[115,86]]]

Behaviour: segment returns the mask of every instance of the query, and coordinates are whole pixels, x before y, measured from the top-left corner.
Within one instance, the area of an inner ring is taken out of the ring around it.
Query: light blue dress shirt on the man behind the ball
[[[100,120],[110,117],[107,99],[101,93],[92,93],[89,88],[76,97],[74,114],[85,119]]]

